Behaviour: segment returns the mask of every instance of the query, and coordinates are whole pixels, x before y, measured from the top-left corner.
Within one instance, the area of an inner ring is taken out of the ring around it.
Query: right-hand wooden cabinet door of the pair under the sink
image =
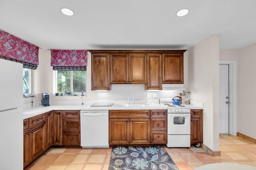
[[[150,143],[150,119],[130,119],[130,144]]]

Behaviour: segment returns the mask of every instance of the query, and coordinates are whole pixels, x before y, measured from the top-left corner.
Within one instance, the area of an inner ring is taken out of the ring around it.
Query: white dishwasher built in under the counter
[[[108,148],[108,110],[82,110],[81,146],[83,148]]]

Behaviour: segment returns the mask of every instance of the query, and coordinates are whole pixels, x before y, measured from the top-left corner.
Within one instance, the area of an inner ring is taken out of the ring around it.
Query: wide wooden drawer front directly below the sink
[[[109,118],[149,118],[149,110],[110,110]]]

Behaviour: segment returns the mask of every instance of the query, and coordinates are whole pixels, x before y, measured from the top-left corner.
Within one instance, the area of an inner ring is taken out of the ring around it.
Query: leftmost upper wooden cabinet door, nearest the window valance
[[[110,90],[109,54],[92,54],[92,90]]]

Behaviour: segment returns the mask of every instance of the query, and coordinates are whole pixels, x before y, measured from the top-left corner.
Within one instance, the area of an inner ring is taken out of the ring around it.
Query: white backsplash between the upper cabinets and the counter
[[[94,100],[127,100],[128,96],[133,100],[145,100],[146,92],[144,84],[112,84],[112,90],[108,92],[95,92]],[[173,98],[179,96],[179,93],[180,90],[149,91],[148,99]],[[153,94],[157,94],[157,98],[153,98]]]

